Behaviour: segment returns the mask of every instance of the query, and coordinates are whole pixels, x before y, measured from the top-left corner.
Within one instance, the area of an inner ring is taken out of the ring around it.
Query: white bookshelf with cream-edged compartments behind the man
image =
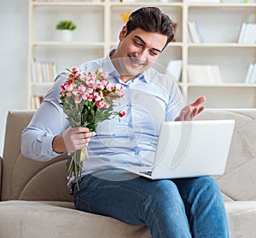
[[[250,1],[253,2],[253,1]],[[176,42],[157,61],[165,72],[168,62],[182,59],[179,87],[189,101],[207,97],[208,108],[256,108],[256,84],[243,83],[249,63],[256,63],[256,44],[237,43],[241,24],[256,23],[256,3],[186,3],[186,1],[36,2],[29,0],[28,107],[32,95],[45,94],[49,82],[32,82],[32,59],[54,61],[58,71],[102,58],[118,43],[124,25],[119,14],[142,6],[158,6],[177,22]],[[59,20],[73,20],[78,29],[72,42],[61,42],[55,32]],[[205,42],[193,43],[187,23],[196,20]],[[223,83],[199,84],[188,80],[188,65],[218,65]]]

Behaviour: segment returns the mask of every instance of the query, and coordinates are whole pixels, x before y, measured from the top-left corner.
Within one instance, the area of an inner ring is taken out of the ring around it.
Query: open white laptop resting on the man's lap
[[[163,122],[153,167],[122,167],[151,179],[221,175],[234,120]]]

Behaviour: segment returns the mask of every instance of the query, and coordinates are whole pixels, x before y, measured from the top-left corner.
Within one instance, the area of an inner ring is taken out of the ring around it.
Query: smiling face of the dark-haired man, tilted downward
[[[111,56],[113,65],[126,82],[147,70],[159,57],[167,36],[140,28],[126,36],[126,26],[119,33],[119,45]]]

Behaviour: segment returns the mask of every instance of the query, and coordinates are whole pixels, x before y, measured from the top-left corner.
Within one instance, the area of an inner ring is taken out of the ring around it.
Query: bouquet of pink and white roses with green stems
[[[120,83],[108,81],[108,72],[98,68],[86,73],[78,66],[67,71],[67,81],[61,85],[61,105],[71,127],[88,127],[96,132],[99,122],[125,116],[125,111],[113,111],[114,103],[124,94]],[[86,148],[70,153],[67,160],[67,179],[74,176],[78,190],[85,158]]]

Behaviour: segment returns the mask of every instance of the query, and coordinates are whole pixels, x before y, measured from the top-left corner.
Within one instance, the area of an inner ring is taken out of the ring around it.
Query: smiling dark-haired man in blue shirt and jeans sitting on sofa
[[[139,8],[119,33],[119,45],[104,59],[80,66],[101,67],[111,81],[121,83],[125,96],[121,121],[102,122],[96,133],[68,127],[59,94],[67,74],[61,73],[22,133],[25,156],[46,161],[59,153],[87,146],[79,190],[73,187],[75,207],[117,218],[128,224],[147,224],[153,237],[229,237],[222,195],[213,178],[150,180],[119,169],[122,165],[153,163],[160,123],[193,120],[203,111],[201,97],[191,105],[172,78],[151,66],[173,37],[172,20],[159,8]]]

